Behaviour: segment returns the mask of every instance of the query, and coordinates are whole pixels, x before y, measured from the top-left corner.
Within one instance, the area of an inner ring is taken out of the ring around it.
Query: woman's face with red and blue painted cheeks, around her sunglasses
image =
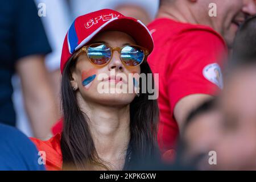
[[[131,36],[119,31],[102,32],[92,43],[105,43],[112,48],[136,44]],[[137,86],[138,74],[135,73],[140,74],[141,68],[123,65],[118,51],[114,51],[112,59],[103,66],[90,63],[84,52],[77,58],[71,85],[78,88],[76,92],[85,101],[112,106],[127,105],[136,96],[134,86]]]

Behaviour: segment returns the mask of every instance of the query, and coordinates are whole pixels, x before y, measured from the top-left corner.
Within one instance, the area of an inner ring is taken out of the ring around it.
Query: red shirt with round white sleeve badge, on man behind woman
[[[175,148],[179,129],[174,107],[191,94],[214,95],[222,88],[220,68],[228,48],[210,27],[156,19],[148,25],[154,51],[148,57],[153,73],[159,73],[160,123],[158,143],[165,152]]]

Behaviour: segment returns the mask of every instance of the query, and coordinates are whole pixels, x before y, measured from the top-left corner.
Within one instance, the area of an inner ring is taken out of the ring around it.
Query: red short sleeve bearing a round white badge
[[[215,32],[182,32],[172,45],[168,65],[168,95],[171,110],[181,98],[191,94],[214,95],[222,88],[221,67],[226,46]]]

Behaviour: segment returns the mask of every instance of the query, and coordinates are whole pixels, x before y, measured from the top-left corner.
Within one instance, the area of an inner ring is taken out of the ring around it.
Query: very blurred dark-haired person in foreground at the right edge
[[[256,17],[237,33],[229,75],[221,96],[222,137],[216,146],[217,169],[256,169]]]

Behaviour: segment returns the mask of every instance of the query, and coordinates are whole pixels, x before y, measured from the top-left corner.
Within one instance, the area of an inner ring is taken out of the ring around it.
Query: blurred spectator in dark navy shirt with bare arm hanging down
[[[0,122],[15,126],[11,76],[16,72],[35,136],[43,138],[56,121],[54,97],[44,66],[44,55],[51,48],[32,0],[1,1],[1,5]]]

